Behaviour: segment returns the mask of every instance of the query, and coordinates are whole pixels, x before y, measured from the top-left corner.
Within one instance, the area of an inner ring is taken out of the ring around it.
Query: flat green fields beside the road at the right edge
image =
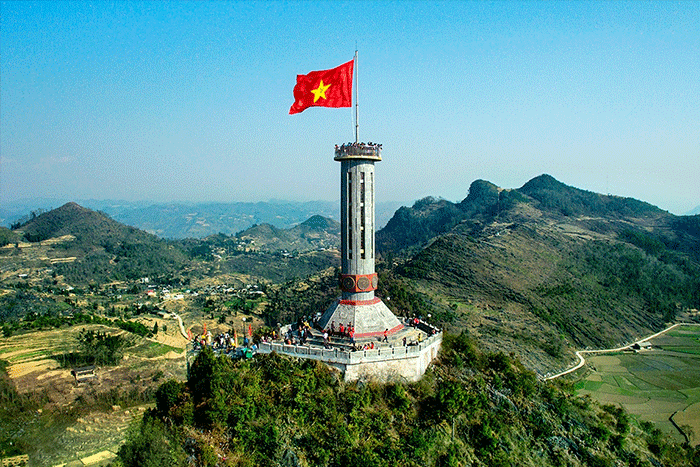
[[[589,371],[577,383],[577,392],[603,404],[622,405],[678,441],[688,436],[698,445],[700,326],[680,326],[649,342],[650,350],[637,353],[587,356]]]

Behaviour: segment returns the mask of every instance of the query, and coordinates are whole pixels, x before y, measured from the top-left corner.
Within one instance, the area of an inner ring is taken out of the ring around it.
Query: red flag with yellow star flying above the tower
[[[297,75],[294,104],[289,114],[303,112],[308,107],[352,107],[352,70],[350,60],[330,70],[311,71]]]

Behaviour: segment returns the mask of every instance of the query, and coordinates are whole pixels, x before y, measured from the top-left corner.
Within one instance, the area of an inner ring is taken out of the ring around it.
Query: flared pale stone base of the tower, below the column
[[[385,330],[393,334],[403,329],[403,324],[379,298],[363,301],[339,299],[323,313],[318,324],[322,329],[330,329],[334,324],[336,330],[341,324],[354,326],[356,340],[381,337]]]

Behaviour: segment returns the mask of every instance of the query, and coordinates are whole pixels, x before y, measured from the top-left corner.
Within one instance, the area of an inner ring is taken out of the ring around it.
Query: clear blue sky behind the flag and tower
[[[378,201],[548,173],[700,205],[700,2],[0,6],[3,203],[335,200],[353,110],[288,111],[357,45]]]

